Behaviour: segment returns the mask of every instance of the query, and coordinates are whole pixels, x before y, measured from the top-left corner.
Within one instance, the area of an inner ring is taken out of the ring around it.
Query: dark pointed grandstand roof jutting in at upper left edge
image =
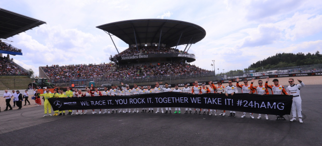
[[[7,39],[46,22],[0,8],[0,38]]]

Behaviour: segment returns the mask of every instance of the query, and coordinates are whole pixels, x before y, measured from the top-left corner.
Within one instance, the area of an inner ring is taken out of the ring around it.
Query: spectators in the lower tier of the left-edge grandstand
[[[14,65],[7,57],[0,57],[0,75],[27,76],[28,73]]]

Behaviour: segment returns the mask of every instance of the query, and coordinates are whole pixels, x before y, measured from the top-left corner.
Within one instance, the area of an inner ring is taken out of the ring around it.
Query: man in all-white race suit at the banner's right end
[[[304,83],[302,80],[297,79],[297,81],[300,84],[294,84],[294,79],[288,79],[288,83],[290,84],[289,86],[286,87],[286,91],[288,94],[293,95],[293,102],[292,102],[292,115],[293,118],[290,121],[295,121],[296,120],[296,110],[297,110],[297,115],[298,115],[298,120],[300,123],[303,123],[302,121],[302,99],[300,96],[300,89],[304,87]]]

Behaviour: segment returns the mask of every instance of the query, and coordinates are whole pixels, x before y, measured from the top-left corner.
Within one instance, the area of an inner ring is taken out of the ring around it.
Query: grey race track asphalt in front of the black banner
[[[241,112],[236,117],[183,113],[42,117],[43,106],[1,111],[0,145],[322,145],[321,89],[322,85],[301,89],[304,123],[290,122],[291,115],[279,121],[275,115],[269,120],[257,119],[257,114],[255,119],[249,114],[241,118]]]

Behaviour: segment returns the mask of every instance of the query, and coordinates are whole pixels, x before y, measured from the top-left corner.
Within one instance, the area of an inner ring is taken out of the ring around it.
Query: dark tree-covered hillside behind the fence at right
[[[277,53],[272,57],[253,63],[247,70],[261,70],[262,67],[264,69],[272,69],[321,63],[322,55],[319,51],[316,51],[315,54],[307,53],[306,55],[303,53]]]

